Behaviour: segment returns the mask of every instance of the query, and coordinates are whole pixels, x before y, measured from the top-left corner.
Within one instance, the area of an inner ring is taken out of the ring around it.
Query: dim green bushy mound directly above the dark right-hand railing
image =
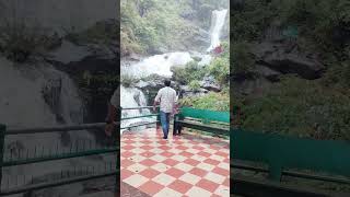
[[[350,97],[317,81],[287,77],[243,106],[243,127],[317,139],[350,140]]]

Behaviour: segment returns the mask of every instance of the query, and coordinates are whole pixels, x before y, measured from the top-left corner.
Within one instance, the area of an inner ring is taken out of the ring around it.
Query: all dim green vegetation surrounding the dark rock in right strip
[[[298,48],[317,54],[326,72],[318,80],[284,76],[262,96],[231,95],[242,107],[243,128],[350,140],[350,2],[348,0],[245,0],[231,11],[234,74],[254,70],[248,45],[267,30],[298,30]],[[287,38],[285,36],[282,38]]]

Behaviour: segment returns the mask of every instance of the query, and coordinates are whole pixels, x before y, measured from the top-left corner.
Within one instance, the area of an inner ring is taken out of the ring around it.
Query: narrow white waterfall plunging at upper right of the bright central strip
[[[207,51],[211,51],[220,45],[220,34],[225,23],[226,14],[228,10],[214,10],[212,12],[212,22],[210,27],[210,47],[207,49]]]

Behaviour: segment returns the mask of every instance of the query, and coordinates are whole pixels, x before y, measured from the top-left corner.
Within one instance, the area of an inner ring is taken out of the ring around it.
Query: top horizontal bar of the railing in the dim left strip
[[[116,124],[118,124],[118,123],[116,123]],[[21,135],[21,134],[73,131],[73,130],[81,130],[81,129],[102,128],[104,126],[106,126],[106,123],[94,123],[94,124],[82,124],[82,125],[66,125],[66,126],[56,126],[56,127],[19,128],[19,129],[9,128],[7,130],[7,132],[5,132],[5,136],[9,136],[9,135]]]

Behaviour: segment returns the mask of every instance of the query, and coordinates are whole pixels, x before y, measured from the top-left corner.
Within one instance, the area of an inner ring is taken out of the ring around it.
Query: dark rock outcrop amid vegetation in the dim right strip
[[[296,74],[306,80],[319,79],[326,69],[316,55],[301,51],[292,40],[250,43],[249,50],[255,58],[254,70],[232,78],[234,91],[243,95],[262,95],[271,83],[279,82],[284,74]]]

